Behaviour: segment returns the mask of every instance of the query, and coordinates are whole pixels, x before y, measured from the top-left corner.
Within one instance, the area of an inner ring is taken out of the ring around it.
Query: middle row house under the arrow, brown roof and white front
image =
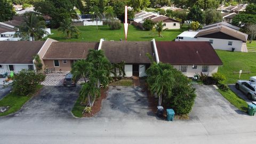
[[[111,63],[125,62],[126,77],[146,76],[150,66],[147,53],[154,56],[153,42],[109,42],[103,41],[99,50],[103,50]],[[115,70],[118,73],[118,69]]]

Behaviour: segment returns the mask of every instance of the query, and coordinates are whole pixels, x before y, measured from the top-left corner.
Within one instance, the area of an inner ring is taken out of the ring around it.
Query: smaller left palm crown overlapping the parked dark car
[[[86,82],[86,78],[92,74],[93,65],[91,62],[87,62],[86,60],[78,60],[76,61],[71,69],[71,74],[73,74],[73,79],[76,81],[77,79],[83,78],[84,82]]]

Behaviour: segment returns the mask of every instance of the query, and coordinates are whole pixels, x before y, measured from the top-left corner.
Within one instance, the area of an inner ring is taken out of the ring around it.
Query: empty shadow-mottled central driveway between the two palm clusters
[[[97,117],[146,118],[151,115],[147,92],[138,86],[109,86]]]

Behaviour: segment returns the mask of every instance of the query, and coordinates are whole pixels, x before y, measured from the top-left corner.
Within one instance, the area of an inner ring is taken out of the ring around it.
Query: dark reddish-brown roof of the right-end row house
[[[156,42],[161,62],[172,65],[222,65],[209,42]]]

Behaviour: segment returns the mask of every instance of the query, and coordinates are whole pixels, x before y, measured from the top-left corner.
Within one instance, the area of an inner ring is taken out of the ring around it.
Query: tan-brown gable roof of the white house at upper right
[[[248,37],[247,34],[244,34],[241,31],[235,30],[233,28],[229,28],[227,26],[216,26],[216,27],[200,30],[195,37],[203,37],[205,35],[219,33],[219,32],[229,35],[231,37],[240,39],[243,42],[246,42]]]

